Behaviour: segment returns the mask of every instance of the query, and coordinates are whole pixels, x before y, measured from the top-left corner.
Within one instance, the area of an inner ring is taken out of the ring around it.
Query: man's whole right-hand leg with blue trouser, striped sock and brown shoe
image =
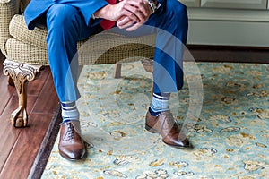
[[[183,86],[183,49],[187,41],[187,10],[177,0],[161,4],[146,25],[156,27],[152,104],[146,129],[160,132],[163,141],[176,148],[191,148],[169,111],[169,95]]]

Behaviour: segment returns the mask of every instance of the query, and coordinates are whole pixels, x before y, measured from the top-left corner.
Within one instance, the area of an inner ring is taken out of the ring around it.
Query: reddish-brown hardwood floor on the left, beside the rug
[[[0,54],[0,179],[39,178],[58,132],[58,98],[48,67],[28,84],[29,124],[14,128],[9,117],[18,107],[18,96],[3,74]]]

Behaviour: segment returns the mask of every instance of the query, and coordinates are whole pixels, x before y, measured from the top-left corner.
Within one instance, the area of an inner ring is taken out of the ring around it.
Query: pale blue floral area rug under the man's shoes
[[[144,129],[152,74],[140,62],[123,64],[120,79],[112,77],[114,65],[84,66],[77,105],[88,155],[61,158],[57,139],[42,178],[268,178],[269,65],[185,67],[170,107],[194,149],[170,148]]]

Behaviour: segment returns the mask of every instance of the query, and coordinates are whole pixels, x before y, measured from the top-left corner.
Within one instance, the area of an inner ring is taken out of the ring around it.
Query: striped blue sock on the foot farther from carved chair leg
[[[162,111],[169,110],[170,93],[153,93],[152,104],[149,108],[153,116],[158,116]]]

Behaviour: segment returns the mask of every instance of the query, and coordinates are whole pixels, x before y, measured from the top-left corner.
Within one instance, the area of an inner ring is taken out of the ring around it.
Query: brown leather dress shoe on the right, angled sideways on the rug
[[[153,116],[149,111],[146,115],[145,129],[149,132],[159,132],[162,141],[175,148],[192,149],[187,136],[180,132],[170,111],[161,112],[158,116]]]

